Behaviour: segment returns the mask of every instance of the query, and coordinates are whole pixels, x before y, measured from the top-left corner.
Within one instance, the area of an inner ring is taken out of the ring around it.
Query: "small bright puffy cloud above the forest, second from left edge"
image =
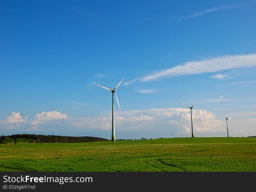
[[[51,121],[56,119],[65,119],[67,114],[58,111],[41,112],[35,114],[35,121],[31,122],[31,125],[42,124],[45,121]]]

